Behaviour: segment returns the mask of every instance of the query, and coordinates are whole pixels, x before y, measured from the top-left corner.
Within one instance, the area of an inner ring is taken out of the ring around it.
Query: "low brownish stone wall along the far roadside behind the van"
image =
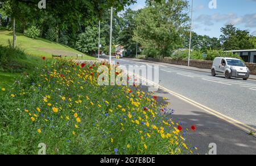
[[[154,60],[162,63],[169,63],[169,64],[175,64],[175,65],[188,65],[188,60],[174,60],[170,57],[164,57],[164,59],[161,59],[161,60],[155,60],[155,59],[148,59],[148,60]],[[213,61],[207,61],[207,60],[191,60],[190,61],[191,67],[196,67],[200,69],[211,69],[212,64],[213,64]],[[251,74],[256,74],[255,63],[245,63],[245,65],[250,69]]]

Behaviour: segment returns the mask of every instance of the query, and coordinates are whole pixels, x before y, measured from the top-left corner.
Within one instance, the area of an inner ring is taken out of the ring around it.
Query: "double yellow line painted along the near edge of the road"
[[[218,118],[220,118],[220,119],[222,119],[222,120],[224,120],[224,121],[226,121],[226,122],[228,122],[228,123],[233,124],[234,126],[236,126],[236,127],[240,128],[241,130],[247,132],[247,134],[252,134],[253,136],[256,136],[256,133],[255,133],[255,132],[256,132],[256,128],[253,128],[253,127],[251,127],[251,126],[248,126],[247,124],[242,123],[242,122],[240,122],[240,121],[237,121],[236,119],[230,118],[230,117],[228,117],[228,116],[226,116],[226,115],[224,115],[224,114],[218,113],[218,111],[213,110],[213,109],[210,109],[210,108],[207,107],[207,106],[201,105],[200,103],[198,103],[198,102],[196,102],[196,101],[193,101],[192,99],[189,99],[189,98],[187,98],[187,97],[184,97],[184,96],[182,96],[181,94],[178,94],[178,93],[176,93],[176,92],[172,92],[171,90],[169,90],[169,89],[167,89],[167,88],[164,88],[163,86],[158,85],[158,84],[156,84],[155,82],[152,82],[152,81],[150,81],[150,80],[147,80],[146,78],[143,78],[143,77],[141,77],[141,76],[138,76],[138,74],[136,74],[136,75],[137,75],[137,77],[141,78],[142,80],[147,81],[147,82],[150,82],[152,85],[158,86],[160,89],[162,89],[162,90],[164,90],[164,91],[166,91],[166,92],[172,94],[173,96],[175,96],[175,97],[177,97],[177,98],[180,98],[181,100],[183,100],[183,101],[185,101],[185,102],[188,102],[188,103],[190,103],[191,105],[196,106],[196,107],[200,108],[201,110],[204,110],[204,111],[206,111],[207,113],[212,114],[212,115],[214,115],[214,116],[216,116],[216,117],[218,117]]]

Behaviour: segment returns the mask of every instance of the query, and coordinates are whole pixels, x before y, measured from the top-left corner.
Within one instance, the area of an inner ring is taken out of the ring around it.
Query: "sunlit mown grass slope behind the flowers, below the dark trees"
[[[13,40],[13,32],[6,31],[6,30],[0,30],[0,45],[9,45],[9,40]],[[52,54],[58,54],[56,51],[60,52],[71,52],[74,54],[81,54],[84,55],[84,59],[86,60],[95,60],[94,57],[85,55],[84,53],[81,53],[71,47],[68,47],[67,45],[51,42],[46,39],[38,38],[38,39],[31,39],[27,38],[23,34],[16,34],[16,45],[22,49],[24,49],[25,53],[28,55],[34,55],[39,57],[51,57]],[[52,52],[51,52],[52,51]],[[61,53],[59,53],[61,54]],[[71,58],[76,58],[75,56],[72,56]]]

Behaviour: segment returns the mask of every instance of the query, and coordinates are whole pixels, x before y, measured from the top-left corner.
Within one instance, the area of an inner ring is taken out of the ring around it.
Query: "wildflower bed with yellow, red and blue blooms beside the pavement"
[[[100,65],[42,59],[0,92],[0,153],[189,154],[173,110],[140,86],[100,86]],[[118,64],[115,64],[117,66]]]

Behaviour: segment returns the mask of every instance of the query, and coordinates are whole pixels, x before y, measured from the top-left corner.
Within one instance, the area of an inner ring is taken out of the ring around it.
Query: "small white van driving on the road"
[[[250,77],[250,70],[240,59],[231,57],[216,57],[212,65],[212,76],[224,75],[226,78],[236,77],[247,80]]]

